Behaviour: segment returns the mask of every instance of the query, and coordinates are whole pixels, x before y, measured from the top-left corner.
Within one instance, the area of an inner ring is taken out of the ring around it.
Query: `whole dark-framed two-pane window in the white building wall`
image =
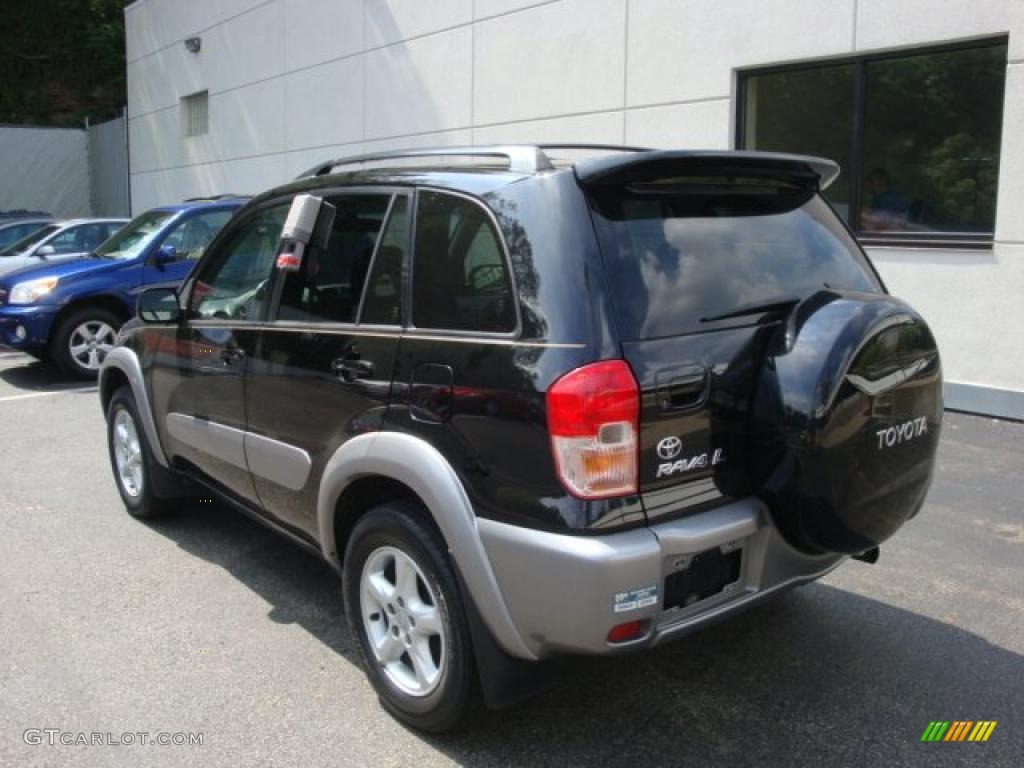
[[[742,73],[737,145],[820,155],[866,243],[985,245],[995,228],[1006,38]]]

